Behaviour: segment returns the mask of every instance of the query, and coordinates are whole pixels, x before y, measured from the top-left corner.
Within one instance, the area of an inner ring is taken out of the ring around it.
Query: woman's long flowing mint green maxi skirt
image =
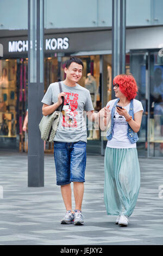
[[[105,150],[104,202],[108,215],[130,216],[140,189],[136,148]]]

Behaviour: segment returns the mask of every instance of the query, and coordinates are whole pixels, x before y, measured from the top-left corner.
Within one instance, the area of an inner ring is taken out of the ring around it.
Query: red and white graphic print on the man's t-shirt
[[[64,127],[77,127],[77,118],[78,114],[78,93],[65,93],[64,107],[62,109],[62,126]]]

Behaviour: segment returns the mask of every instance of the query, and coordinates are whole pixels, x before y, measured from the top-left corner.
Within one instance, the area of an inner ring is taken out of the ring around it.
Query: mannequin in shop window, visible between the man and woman
[[[97,87],[96,87],[96,80],[91,75],[91,73],[87,74],[87,78],[85,80],[85,88],[90,91],[93,107],[95,108],[96,107],[96,97],[97,97]],[[87,137],[87,139],[96,139],[95,132],[94,132],[95,130],[93,129],[94,124],[91,123],[89,126],[90,126],[89,127],[89,137]]]

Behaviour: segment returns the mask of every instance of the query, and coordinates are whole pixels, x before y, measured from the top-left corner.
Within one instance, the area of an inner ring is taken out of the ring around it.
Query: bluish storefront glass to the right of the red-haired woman
[[[143,105],[137,150],[141,156],[163,155],[163,59],[158,52],[131,52],[130,68]]]

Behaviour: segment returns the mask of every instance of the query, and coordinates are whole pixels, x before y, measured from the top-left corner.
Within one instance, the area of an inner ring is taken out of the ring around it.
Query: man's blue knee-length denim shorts
[[[85,182],[86,142],[54,141],[57,185]]]

